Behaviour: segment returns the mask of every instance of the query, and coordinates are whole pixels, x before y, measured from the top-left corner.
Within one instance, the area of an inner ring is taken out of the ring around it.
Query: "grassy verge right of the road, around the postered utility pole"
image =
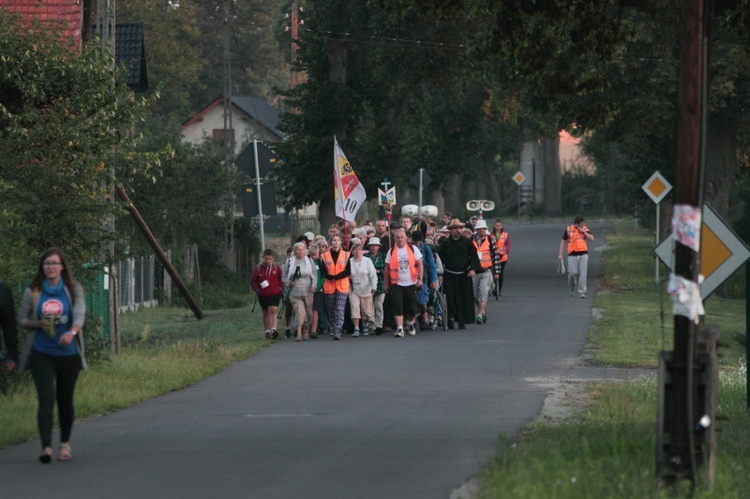
[[[669,297],[654,282],[653,234],[615,223],[604,254],[602,310],[589,334],[595,363],[655,366],[672,348]],[[662,269],[664,274],[665,270]],[[663,285],[663,283],[662,283]],[[743,292],[744,295],[744,292]],[[750,477],[750,416],[746,411],[743,299],[711,297],[706,320],[720,326],[719,446],[712,490],[695,497],[745,497]],[[664,319],[662,320],[662,310]],[[742,333],[742,334],[741,334]],[[667,497],[655,490],[656,380],[590,387],[592,403],[562,424],[533,423],[518,439],[501,442],[482,473],[482,498]],[[675,491],[686,497],[686,488]]]

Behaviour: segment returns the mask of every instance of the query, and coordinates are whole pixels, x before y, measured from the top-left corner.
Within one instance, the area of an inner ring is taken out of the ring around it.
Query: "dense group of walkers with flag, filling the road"
[[[267,339],[281,336],[281,316],[285,337],[297,341],[325,333],[334,340],[413,336],[443,320],[451,329],[486,323],[487,300],[502,293],[509,254],[499,218],[492,230],[478,217],[462,222],[450,214],[440,228],[409,217],[363,227],[341,221],[327,236],[300,236],[282,264],[266,249],[250,285]],[[447,299],[442,316],[433,306],[439,290]]]

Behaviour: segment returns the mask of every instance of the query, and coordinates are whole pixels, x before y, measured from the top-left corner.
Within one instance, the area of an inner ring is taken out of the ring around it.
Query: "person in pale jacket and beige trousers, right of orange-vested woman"
[[[373,296],[378,290],[378,275],[375,272],[375,266],[372,264],[372,260],[364,257],[362,253],[360,242],[352,244],[352,273],[349,276],[352,292],[349,293],[349,307],[352,324],[354,325],[353,338],[359,336],[360,322],[362,334],[364,336],[370,334],[369,324],[375,317]]]

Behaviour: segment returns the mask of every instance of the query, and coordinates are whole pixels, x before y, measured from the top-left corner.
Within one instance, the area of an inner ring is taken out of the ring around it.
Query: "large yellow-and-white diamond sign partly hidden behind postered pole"
[[[654,250],[674,272],[674,238],[670,234]],[[703,205],[701,223],[701,298],[708,298],[750,258],[750,250],[709,205]]]

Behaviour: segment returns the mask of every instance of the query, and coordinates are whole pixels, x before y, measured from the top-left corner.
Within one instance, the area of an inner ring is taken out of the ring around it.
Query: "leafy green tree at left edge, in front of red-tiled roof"
[[[135,137],[124,133],[144,103],[113,88],[110,62],[96,48],[71,53],[57,30],[2,10],[0,60],[4,203],[35,253],[61,246],[78,262],[97,260],[114,237],[103,224],[117,209],[109,201],[112,172],[147,166],[130,159]]]

